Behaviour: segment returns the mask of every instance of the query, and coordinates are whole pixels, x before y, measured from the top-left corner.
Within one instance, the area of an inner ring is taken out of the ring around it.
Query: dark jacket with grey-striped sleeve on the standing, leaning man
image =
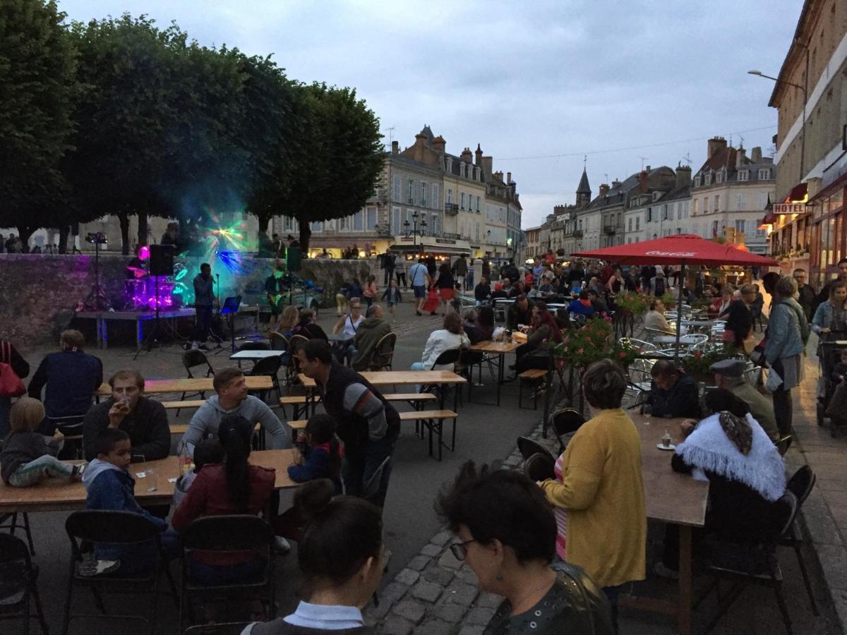
[[[357,391],[354,384],[364,389]],[[362,375],[333,360],[327,384],[318,388],[324,409],[335,419],[335,433],[344,441],[345,456],[364,456],[372,441],[394,443],[400,433],[400,415]]]

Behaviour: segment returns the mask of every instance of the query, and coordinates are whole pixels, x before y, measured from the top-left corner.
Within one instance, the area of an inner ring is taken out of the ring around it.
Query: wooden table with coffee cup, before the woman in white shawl
[[[672,443],[683,441],[680,423],[682,418],[667,419],[644,415],[629,415],[641,437],[641,470],[644,478],[645,508],[647,517],[679,527],[679,581],[677,601],[639,598],[634,595],[621,598],[622,605],[676,616],[677,632],[691,632],[691,530],[706,524],[706,500],[709,483],[696,481],[689,474],[674,472],[671,468],[673,451],[659,450],[656,444],[662,439],[665,428],[671,433]]]

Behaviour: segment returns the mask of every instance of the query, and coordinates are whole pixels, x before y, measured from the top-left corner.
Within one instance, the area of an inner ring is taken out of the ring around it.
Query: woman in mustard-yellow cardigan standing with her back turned
[[[623,369],[610,360],[595,362],[582,381],[594,417],[567,444],[562,482],[539,486],[552,505],[567,509],[567,562],[582,567],[606,592],[617,631],[620,586],[645,578],[641,440],[621,409]]]

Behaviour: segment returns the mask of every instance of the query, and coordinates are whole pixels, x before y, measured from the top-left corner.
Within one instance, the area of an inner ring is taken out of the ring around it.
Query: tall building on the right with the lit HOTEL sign
[[[820,286],[847,253],[847,3],[805,0],[769,106],[778,109],[773,209],[765,218],[783,271]]]

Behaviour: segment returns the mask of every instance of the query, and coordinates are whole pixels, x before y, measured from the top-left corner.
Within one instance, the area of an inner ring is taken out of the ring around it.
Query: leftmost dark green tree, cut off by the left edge
[[[67,217],[60,162],[74,130],[75,53],[54,2],[0,2],[0,227],[26,245]]]

